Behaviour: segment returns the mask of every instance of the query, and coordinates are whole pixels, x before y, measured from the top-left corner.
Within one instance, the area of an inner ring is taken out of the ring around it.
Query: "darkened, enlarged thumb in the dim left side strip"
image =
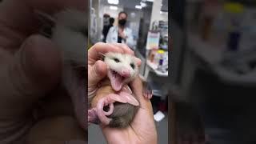
[[[59,82],[61,57],[47,38],[34,35],[0,70],[0,114],[20,117]]]

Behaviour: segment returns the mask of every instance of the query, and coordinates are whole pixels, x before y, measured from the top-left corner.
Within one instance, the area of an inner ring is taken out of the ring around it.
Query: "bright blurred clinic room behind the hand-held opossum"
[[[125,27],[131,31],[127,35],[129,43],[122,43],[130,46],[142,60],[140,77],[153,90],[151,102],[158,143],[168,143],[168,0],[90,0],[90,46],[109,42],[108,35],[122,27],[118,23],[121,11],[127,14]],[[90,125],[88,131],[89,143],[106,143],[98,126]]]

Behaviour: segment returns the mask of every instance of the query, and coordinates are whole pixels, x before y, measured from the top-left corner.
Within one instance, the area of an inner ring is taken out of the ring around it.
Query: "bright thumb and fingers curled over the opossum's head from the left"
[[[134,51],[130,50],[128,46],[120,43],[102,43],[98,42],[88,50],[88,95],[94,95],[98,90],[98,82],[106,77],[107,69],[106,63],[102,62],[102,54],[107,52],[117,52],[122,54],[132,54]],[[141,65],[141,60],[137,58],[138,66]]]

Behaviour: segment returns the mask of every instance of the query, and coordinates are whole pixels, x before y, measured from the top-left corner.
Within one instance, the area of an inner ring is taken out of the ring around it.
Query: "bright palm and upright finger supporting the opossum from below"
[[[142,81],[135,78],[130,84],[134,95],[140,102],[134,121],[126,129],[110,128],[101,125],[102,132],[109,144],[156,144],[157,131],[154,124],[153,109],[148,98],[142,95]]]

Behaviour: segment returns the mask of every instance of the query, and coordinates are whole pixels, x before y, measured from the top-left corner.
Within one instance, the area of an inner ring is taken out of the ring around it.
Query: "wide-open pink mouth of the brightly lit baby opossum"
[[[121,90],[126,80],[125,77],[123,77],[121,74],[118,74],[118,72],[114,70],[110,70],[109,78],[110,78],[111,86],[115,91]]]

